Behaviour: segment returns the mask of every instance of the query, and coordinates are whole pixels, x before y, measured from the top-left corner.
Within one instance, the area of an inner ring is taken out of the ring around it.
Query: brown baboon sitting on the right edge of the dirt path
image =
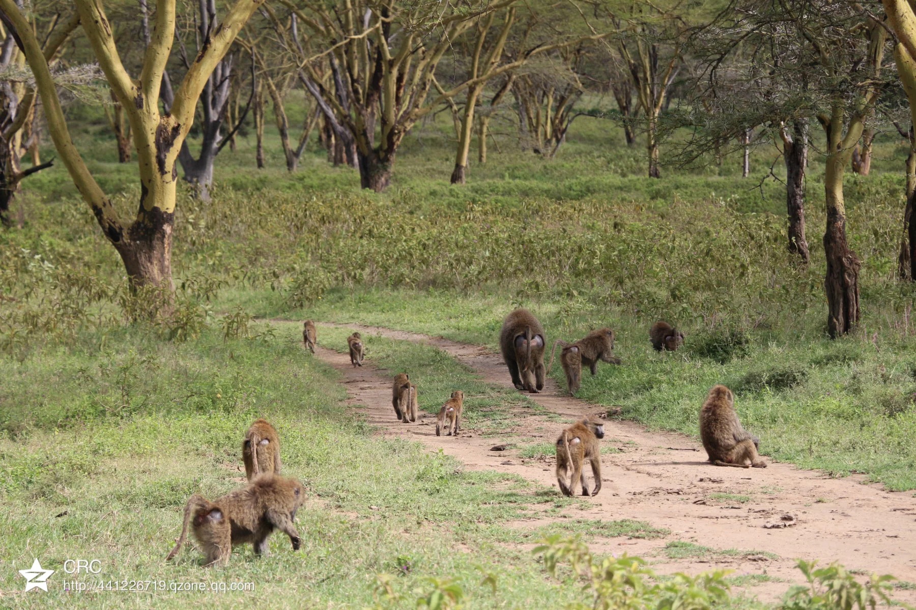
[[[741,426],[735,395],[724,385],[713,386],[700,410],[700,438],[715,466],[766,468],[757,454],[758,438]]]

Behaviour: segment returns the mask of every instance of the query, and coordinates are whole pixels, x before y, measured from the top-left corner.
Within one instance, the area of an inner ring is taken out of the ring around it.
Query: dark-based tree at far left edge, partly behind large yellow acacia
[[[4,23],[6,21],[4,20]],[[29,27],[37,29],[32,16]],[[53,63],[61,45],[79,27],[80,16],[71,13],[60,19],[60,13],[53,16],[46,25],[45,41],[40,46],[42,56]],[[27,148],[27,132],[32,132],[36,123],[35,88],[26,82],[24,73],[26,57],[16,47],[16,32],[3,27],[3,43],[0,45],[0,222],[9,224],[8,210],[21,190],[22,180],[52,165],[53,161],[36,163],[23,170],[20,158]],[[36,149],[37,150],[37,149]]]

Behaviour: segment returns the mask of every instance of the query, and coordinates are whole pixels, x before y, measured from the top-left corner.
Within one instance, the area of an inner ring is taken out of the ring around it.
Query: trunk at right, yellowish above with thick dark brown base
[[[846,212],[843,201],[843,170],[848,155],[830,145],[823,176],[827,206],[827,227],[823,233],[823,253],[827,260],[824,288],[827,293],[827,331],[831,338],[842,337],[859,320],[859,260],[846,242]]]

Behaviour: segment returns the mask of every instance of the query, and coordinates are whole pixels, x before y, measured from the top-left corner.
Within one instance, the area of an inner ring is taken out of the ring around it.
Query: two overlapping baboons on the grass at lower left
[[[252,423],[242,442],[247,485],[213,502],[200,494],[188,498],[181,534],[166,560],[178,555],[189,524],[208,566],[225,565],[232,548],[248,542],[256,554],[266,554],[267,538],[275,529],[287,534],[298,551],[301,540],[293,521],[305,501],[305,487],[298,479],[279,476],[279,448],[277,431],[267,420]]]

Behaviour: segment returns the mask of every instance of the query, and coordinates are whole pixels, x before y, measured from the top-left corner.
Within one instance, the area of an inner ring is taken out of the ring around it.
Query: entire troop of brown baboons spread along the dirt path
[[[614,331],[600,328],[573,343],[557,340],[551,350],[551,367],[557,346],[562,346],[560,363],[566,373],[567,389],[579,390],[583,364],[592,375],[599,361],[619,365],[614,354]],[[683,345],[684,334],[667,322],[659,321],[649,330],[652,348],[675,351]],[[305,348],[315,352],[317,332],[314,323],[302,325]],[[522,391],[538,393],[550,368],[544,368],[547,337],[538,318],[526,309],[516,309],[503,322],[499,333],[502,353],[512,384]],[[350,362],[363,366],[365,346],[363,337],[354,332],[347,337]],[[417,386],[407,373],[395,375],[391,387],[391,404],[401,423],[417,421],[419,401]],[[461,430],[464,392],[456,390],[445,401],[436,418],[436,436],[457,435]],[[601,490],[601,451],[599,440],[605,436],[605,426],[594,417],[564,429],[556,442],[557,484],[565,496],[573,496],[577,484],[583,496],[596,496]],[[765,468],[767,463],[758,455],[758,437],[748,433],[738,420],[735,395],[724,385],[716,385],[700,410],[700,437],[709,462],[715,466]],[[583,471],[584,463],[592,466],[594,490],[589,490]],[[289,536],[294,551],[301,545],[294,520],[296,511],[305,501],[305,487],[296,478],[280,476],[280,443],[277,430],[264,419],[257,419],[248,428],[242,442],[242,461],[248,483],[216,498],[212,502],[199,494],[188,499],[184,508],[181,533],[175,547],[166,558],[174,558],[185,540],[188,528],[201,545],[206,565],[224,565],[229,561],[232,547],[250,542],[256,554],[267,552],[267,538],[278,529]]]

